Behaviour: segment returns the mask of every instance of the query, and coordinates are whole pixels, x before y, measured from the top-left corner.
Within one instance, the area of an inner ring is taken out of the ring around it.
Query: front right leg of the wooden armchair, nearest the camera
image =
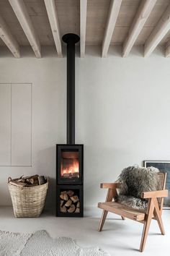
[[[143,234],[142,234],[142,238],[141,238],[141,242],[140,242],[140,252],[143,252],[145,245],[146,245],[146,239],[148,236],[148,230],[151,224],[151,219],[153,216],[153,210],[154,210],[154,205],[153,202],[149,202],[148,203],[148,213],[146,215],[146,220],[144,222],[144,226],[143,226]]]

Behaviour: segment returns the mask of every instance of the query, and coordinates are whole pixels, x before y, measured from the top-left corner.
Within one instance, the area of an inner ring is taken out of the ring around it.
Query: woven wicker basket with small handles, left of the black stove
[[[17,187],[9,182],[9,192],[15,217],[39,217],[45,205],[48,190],[48,180],[45,184],[34,187]]]

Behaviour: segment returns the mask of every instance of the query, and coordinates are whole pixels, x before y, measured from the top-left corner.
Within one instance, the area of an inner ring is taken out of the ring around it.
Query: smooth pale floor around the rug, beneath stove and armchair
[[[56,218],[48,211],[40,218],[14,218],[11,207],[0,207],[0,230],[32,233],[45,229],[50,236],[70,236],[81,246],[99,246],[113,256],[140,255],[138,248],[143,225],[128,219],[122,221],[112,214],[108,216],[103,231],[98,232],[101,212],[94,208],[86,211],[84,218]],[[153,221],[143,256],[169,255],[170,210],[164,210],[163,219],[166,235],[160,234],[156,221]]]

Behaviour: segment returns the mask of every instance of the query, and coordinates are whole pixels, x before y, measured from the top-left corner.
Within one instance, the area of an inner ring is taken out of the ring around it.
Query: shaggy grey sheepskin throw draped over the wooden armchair
[[[129,207],[146,210],[148,200],[141,199],[142,192],[160,189],[158,168],[129,166],[122,170],[117,182],[120,183],[116,202]]]

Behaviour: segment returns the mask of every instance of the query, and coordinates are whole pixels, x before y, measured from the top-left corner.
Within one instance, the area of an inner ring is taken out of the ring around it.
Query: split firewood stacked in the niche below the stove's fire
[[[62,191],[61,213],[80,213],[80,200],[73,190]]]

